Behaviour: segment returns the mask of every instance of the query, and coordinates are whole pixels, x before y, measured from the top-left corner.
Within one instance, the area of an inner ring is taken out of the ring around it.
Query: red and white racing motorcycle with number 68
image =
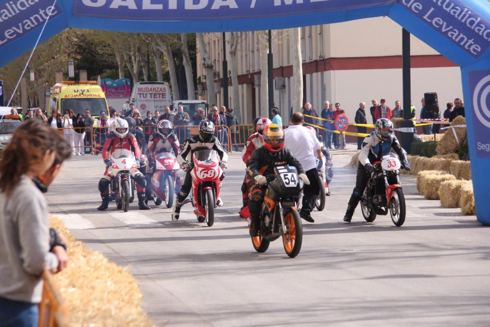
[[[215,150],[195,151],[192,156],[191,171],[194,213],[200,223],[214,224],[214,209],[220,196],[221,175],[220,156]]]

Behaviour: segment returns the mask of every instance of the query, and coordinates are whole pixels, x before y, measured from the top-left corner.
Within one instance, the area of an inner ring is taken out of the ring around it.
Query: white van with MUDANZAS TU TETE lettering
[[[172,104],[169,84],[164,82],[136,83],[131,92],[131,102],[134,103],[134,107],[140,111],[143,118],[146,117],[148,110],[153,114],[155,110],[163,113],[165,107],[170,107]]]

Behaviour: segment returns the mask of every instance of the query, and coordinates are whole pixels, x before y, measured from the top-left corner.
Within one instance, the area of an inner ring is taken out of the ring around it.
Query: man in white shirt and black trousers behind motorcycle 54
[[[305,185],[303,189],[303,205],[299,215],[307,222],[314,223],[311,212],[320,193],[320,184],[322,183],[318,176],[316,157],[322,158],[323,153],[321,152],[322,144],[311,130],[302,126],[303,121],[302,113],[293,114],[290,126],[284,129],[284,148],[293,153],[310,180],[310,185]]]

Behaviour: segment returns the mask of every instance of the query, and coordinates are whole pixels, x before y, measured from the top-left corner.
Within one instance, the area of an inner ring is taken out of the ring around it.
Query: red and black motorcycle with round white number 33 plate
[[[383,156],[381,162],[373,164],[374,172],[368,180],[361,198],[364,219],[371,223],[376,215],[392,217],[393,224],[402,226],[405,222],[405,197],[400,184],[400,160],[394,153]]]

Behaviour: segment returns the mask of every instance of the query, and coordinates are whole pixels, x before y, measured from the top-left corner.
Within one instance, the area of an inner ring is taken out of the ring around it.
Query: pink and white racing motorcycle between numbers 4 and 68
[[[151,198],[155,205],[165,201],[167,208],[172,207],[175,181],[180,165],[172,152],[161,152],[155,156],[155,172],[151,177]]]

